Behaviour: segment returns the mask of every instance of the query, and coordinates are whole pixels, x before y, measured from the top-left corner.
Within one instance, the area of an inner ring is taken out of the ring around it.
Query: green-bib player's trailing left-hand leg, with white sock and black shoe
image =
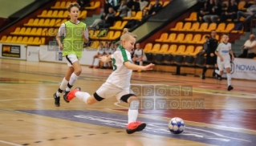
[[[68,69],[65,77],[63,78],[63,81],[60,83],[58,91],[55,92],[53,95],[55,99],[55,106],[59,107],[59,99],[60,99],[60,94],[63,93],[65,88],[67,87],[67,83],[71,77],[71,74],[74,72],[74,68],[72,67],[71,63],[67,63]]]

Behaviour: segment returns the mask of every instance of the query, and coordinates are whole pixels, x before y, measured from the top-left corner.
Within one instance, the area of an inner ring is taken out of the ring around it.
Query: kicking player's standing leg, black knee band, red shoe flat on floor
[[[136,95],[134,95],[133,93],[130,91],[122,91],[120,92],[118,95],[116,95],[116,99],[124,101],[125,103],[129,103],[129,109],[128,109],[128,125],[126,127],[126,132],[128,134],[132,134],[134,132],[140,132],[142,131],[145,127],[146,124],[140,121],[137,121],[137,117],[138,117],[138,110],[139,110],[139,105],[140,105],[140,101],[139,99],[136,97]],[[125,94],[125,95],[124,95]]]

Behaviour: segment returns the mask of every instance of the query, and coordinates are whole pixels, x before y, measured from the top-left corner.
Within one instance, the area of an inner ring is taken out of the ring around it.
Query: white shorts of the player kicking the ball
[[[110,97],[116,97],[118,101],[121,101],[120,99],[124,95],[134,95],[133,91],[130,88],[121,89],[120,87],[116,87],[115,85],[109,83],[104,83],[103,85],[101,85],[96,93],[100,96],[100,98],[108,99]]]

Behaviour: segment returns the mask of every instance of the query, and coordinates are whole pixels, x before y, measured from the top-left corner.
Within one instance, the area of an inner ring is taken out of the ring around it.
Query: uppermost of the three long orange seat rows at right
[[[174,28],[171,28],[170,30],[176,30],[176,31],[203,31],[203,32],[210,32],[211,30],[216,30],[217,32],[230,32],[234,28],[234,23],[228,23],[226,25],[225,22],[221,22],[217,25],[217,23],[212,22],[177,22],[176,26]],[[235,31],[234,31],[235,32]]]

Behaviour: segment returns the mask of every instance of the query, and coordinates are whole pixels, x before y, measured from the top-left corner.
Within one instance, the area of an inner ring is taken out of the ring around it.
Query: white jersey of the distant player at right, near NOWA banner
[[[230,50],[231,50],[231,43],[219,43],[217,46],[216,51],[221,55],[224,61],[230,61]],[[220,60],[217,57],[217,60]]]

